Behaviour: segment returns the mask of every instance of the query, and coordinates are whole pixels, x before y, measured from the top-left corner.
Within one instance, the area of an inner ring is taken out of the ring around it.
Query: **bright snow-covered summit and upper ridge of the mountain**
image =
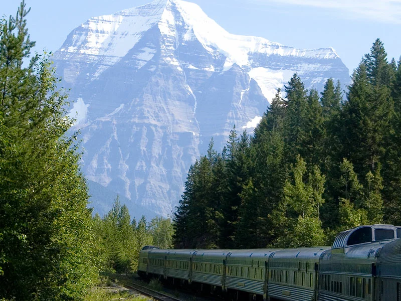
[[[175,25],[179,25],[185,29],[183,40],[196,38],[206,49],[220,50],[239,66],[251,64],[250,53],[318,59],[338,57],[332,48],[296,49],[264,38],[230,34],[198,5],[181,0],[157,0],[113,15],[91,18],[73,32],[70,45],[63,45],[60,51],[121,58],[156,24],[161,34],[170,36],[176,34]]]

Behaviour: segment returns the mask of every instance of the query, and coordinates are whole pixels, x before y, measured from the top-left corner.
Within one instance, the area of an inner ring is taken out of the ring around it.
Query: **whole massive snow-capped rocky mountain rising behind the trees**
[[[161,215],[211,137],[220,150],[234,124],[255,126],[295,72],[320,90],[329,77],[349,81],[332,48],[232,35],[181,0],[89,19],[55,64],[71,88],[86,177]]]

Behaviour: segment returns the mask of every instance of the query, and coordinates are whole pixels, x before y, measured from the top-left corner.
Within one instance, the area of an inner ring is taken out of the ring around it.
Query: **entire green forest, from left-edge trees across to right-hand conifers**
[[[118,197],[93,215],[79,132],[50,53],[33,54],[24,2],[0,22],[0,300],[84,300],[144,245],[330,245],[362,224],[401,225],[401,59],[377,39],[346,91],[294,74],[255,128],[188,171],[172,220],[132,219]],[[134,212],[131,212],[134,214]]]

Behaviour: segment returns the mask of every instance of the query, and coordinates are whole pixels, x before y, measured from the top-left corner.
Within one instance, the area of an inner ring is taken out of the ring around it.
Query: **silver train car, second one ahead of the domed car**
[[[245,291],[267,298],[269,256],[277,250],[254,249],[231,251],[226,260],[224,289]]]

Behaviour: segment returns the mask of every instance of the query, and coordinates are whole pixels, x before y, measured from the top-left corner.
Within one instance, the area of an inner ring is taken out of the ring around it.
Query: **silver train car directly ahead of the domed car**
[[[330,247],[283,249],[270,255],[268,298],[317,300],[320,255]]]

